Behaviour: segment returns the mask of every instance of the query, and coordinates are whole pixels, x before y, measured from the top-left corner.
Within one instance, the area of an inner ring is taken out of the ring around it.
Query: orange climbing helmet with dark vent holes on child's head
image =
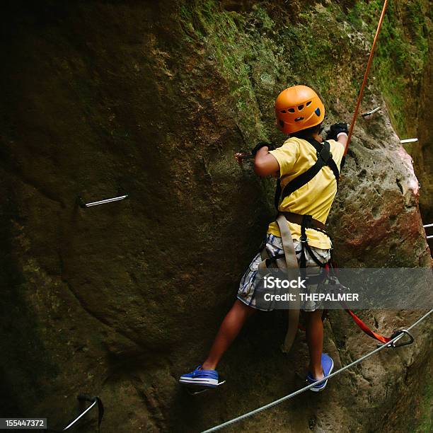
[[[291,86],[275,100],[277,126],[284,134],[318,125],[325,118],[325,106],[312,88]]]

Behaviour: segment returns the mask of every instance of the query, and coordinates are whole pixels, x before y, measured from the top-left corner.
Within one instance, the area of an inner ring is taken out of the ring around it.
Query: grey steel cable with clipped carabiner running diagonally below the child
[[[415,323],[412,323],[412,325],[409,326],[409,328],[406,328],[405,330],[401,330],[400,333],[398,333],[398,335],[396,335],[395,337],[393,337],[391,340],[388,341],[387,344],[383,344],[380,345],[379,347],[377,347],[376,349],[372,350],[371,352],[368,352],[367,354],[364,354],[362,357],[360,357],[359,359],[356,359],[354,362],[351,362],[350,364],[347,364],[346,366],[343,366],[341,369],[334,371],[333,373],[331,373],[329,376],[324,377],[323,379],[311,383],[308,386],[304,386],[304,388],[300,388],[297,391],[294,391],[293,393],[288,394],[287,396],[284,396],[282,398],[279,398],[278,400],[272,401],[271,403],[267,403],[267,405],[261,406],[260,408],[257,408],[255,410],[251,410],[250,412],[247,412],[239,417],[233,418],[232,420],[223,422],[220,425],[216,425],[215,427],[212,427],[210,429],[204,430],[202,433],[210,433],[210,432],[217,432],[217,430],[220,429],[224,429],[225,427],[229,427],[229,425],[234,424],[235,422],[239,422],[241,420],[245,420],[248,417],[251,417],[259,412],[262,412],[263,410],[267,410],[272,408],[273,406],[279,405],[279,403],[282,403],[283,401],[289,400],[290,398],[293,398],[295,396],[299,396],[299,394],[304,393],[304,391],[307,391],[308,389],[310,389],[313,386],[318,385],[318,383],[322,383],[323,381],[327,381],[328,379],[330,379],[333,376],[337,376],[337,374],[342,373],[343,371],[352,368],[352,366],[359,364],[359,362],[364,361],[364,359],[367,359],[371,356],[373,356],[376,353],[379,353],[381,350],[385,349],[385,348],[394,348],[394,347],[399,347],[402,346],[403,344],[400,345],[396,345],[396,342],[398,342],[398,340],[400,340],[401,338],[403,338],[405,335],[410,335],[409,331],[412,328],[415,328],[415,326],[417,326],[419,323],[421,323],[422,321],[424,321],[431,313],[433,312],[433,309],[430,310],[428,313],[426,313],[424,316],[422,316],[421,318],[419,318]],[[413,341],[413,337],[410,335],[411,337],[411,341],[406,343],[406,344],[410,344]]]

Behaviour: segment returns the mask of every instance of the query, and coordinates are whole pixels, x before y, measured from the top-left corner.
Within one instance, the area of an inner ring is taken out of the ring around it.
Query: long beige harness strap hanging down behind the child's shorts
[[[289,279],[296,279],[299,277],[298,260],[296,259],[296,253],[294,250],[293,239],[291,238],[289,224],[287,224],[287,219],[284,217],[284,215],[278,215],[277,224],[279,227],[279,233],[281,233],[281,240],[286,258],[287,277],[289,277]],[[284,343],[282,345],[283,352],[289,352],[296,337],[296,333],[298,332],[299,308],[301,306],[301,301],[299,299],[299,287],[291,289],[291,293],[296,296],[296,301],[294,301],[294,304],[291,304],[291,308],[289,308],[287,311],[289,314],[289,323],[286,338],[284,339]]]

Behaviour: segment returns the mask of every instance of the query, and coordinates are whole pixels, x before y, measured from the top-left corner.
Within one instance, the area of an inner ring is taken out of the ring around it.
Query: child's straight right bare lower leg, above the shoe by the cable
[[[322,351],[323,351],[323,321],[322,310],[306,311],[306,340],[310,352],[310,373],[316,379],[323,379]]]

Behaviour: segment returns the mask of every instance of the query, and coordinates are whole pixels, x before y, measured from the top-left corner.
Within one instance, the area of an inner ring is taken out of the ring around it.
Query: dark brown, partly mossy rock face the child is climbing
[[[283,142],[272,104],[294,83],[321,93],[328,124],[350,120],[371,38],[343,19],[353,4],[9,6],[0,415],[61,426],[84,392],[105,403],[103,432],[195,432],[303,385],[303,337],[289,356],[278,350],[282,312],[246,326],[221,364],[229,381],[218,393],[190,398],[177,379],[204,357],[273,215],[272,181],[239,167],[235,151]],[[364,107],[382,109],[357,123],[330,216],[336,258],[347,267],[428,267],[417,178],[374,73],[370,83]],[[76,204],[119,188],[128,200]],[[384,334],[420,315],[362,314]],[[429,330],[420,325],[416,345],[381,352],[326,393],[238,428],[408,431],[423,416]],[[337,367],[372,348],[344,311],[330,315],[325,350]]]

